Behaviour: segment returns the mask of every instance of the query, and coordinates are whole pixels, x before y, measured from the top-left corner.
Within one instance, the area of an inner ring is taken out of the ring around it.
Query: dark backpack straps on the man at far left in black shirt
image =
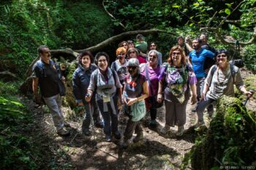
[[[40,72],[41,77],[46,77],[45,65],[42,63],[41,60],[37,61],[36,66],[39,68],[39,72]],[[58,77],[59,77],[59,81],[58,81],[59,94],[60,94],[60,96],[65,96],[66,95],[66,88],[65,88],[64,83],[61,81],[62,74],[61,74],[61,69],[60,69],[59,63],[54,63],[52,60],[50,60],[50,66],[55,66],[56,71],[58,73]]]

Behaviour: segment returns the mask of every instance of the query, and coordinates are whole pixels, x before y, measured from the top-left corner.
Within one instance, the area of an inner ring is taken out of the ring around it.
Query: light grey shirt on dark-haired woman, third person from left
[[[116,82],[113,76],[116,76]],[[116,72],[112,72],[110,68],[108,68],[107,77],[108,80],[106,80],[104,75],[99,72],[99,69],[94,70],[94,72],[91,74],[91,80],[88,89],[92,91],[97,89],[97,101],[102,99],[102,96],[105,95],[114,96],[116,94],[117,88],[122,88],[118,75]]]

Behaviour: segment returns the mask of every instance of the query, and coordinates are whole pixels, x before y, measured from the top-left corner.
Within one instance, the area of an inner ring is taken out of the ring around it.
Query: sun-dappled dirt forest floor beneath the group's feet
[[[121,149],[121,142],[105,142],[105,134],[101,128],[94,128],[94,136],[81,133],[82,115],[75,115],[68,107],[63,107],[64,116],[70,123],[71,135],[60,137],[56,134],[53,120],[47,107],[37,107],[29,98],[21,98],[31,111],[34,123],[29,125],[29,136],[40,146],[43,157],[35,158],[45,169],[181,169],[184,155],[195,144],[196,131],[192,125],[196,123],[196,113],[191,112],[190,101],[187,105],[187,123],[183,136],[176,136],[177,127],[171,128],[167,134],[160,130],[165,125],[165,106],[157,110],[157,128],[149,128],[150,117],[143,120],[144,139],[129,145],[127,150]],[[246,107],[255,110],[256,102],[249,101]],[[205,114],[206,125],[209,119]],[[127,123],[127,117],[119,115],[118,128],[121,134]],[[134,136],[133,136],[134,137]],[[97,145],[97,148],[95,147]],[[189,167],[187,167],[189,169]]]

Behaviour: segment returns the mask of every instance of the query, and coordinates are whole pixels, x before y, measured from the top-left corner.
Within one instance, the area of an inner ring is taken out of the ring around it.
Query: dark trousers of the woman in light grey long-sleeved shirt
[[[99,107],[99,111],[102,114],[103,120],[104,120],[104,132],[106,135],[110,136],[111,131],[112,133],[115,133],[118,131],[118,109],[117,109],[117,101],[118,96],[117,94],[113,96],[113,102],[114,102],[114,109],[116,109],[116,114],[113,113],[113,108],[110,105],[110,102],[107,103],[108,105],[108,112],[104,112],[103,107],[103,100],[98,100],[97,104]]]

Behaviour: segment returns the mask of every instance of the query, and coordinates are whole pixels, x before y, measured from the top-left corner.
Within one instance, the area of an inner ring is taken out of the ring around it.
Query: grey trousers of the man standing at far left
[[[61,130],[61,128],[64,127],[64,116],[61,111],[61,96],[57,94],[55,96],[44,98],[44,100],[45,104],[48,106],[50,110],[50,114],[53,117],[53,123],[56,127],[56,130]]]

